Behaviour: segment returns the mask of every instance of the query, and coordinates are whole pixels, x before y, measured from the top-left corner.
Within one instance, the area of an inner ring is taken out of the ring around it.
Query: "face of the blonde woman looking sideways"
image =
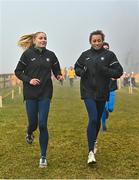
[[[47,45],[47,37],[45,33],[38,33],[33,40],[36,47],[43,48]]]

